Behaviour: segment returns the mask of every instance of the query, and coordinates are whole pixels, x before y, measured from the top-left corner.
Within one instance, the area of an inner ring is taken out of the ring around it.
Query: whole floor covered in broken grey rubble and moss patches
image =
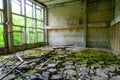
[[[120,80],[120,60],[101,49],[42,47],[18,52],[18,58],[13,57],[1,59],[3,80]]]

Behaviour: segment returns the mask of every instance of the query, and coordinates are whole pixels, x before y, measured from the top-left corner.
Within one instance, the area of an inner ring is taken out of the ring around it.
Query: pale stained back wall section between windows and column
[[[50,8],[49,45],[83,46],[83,8],[81,4]]]

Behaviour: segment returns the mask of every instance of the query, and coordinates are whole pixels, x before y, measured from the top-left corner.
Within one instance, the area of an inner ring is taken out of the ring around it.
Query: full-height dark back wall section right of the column
[[[113,4],[109,0],[88,2],[87,46],[108,48],[110,45],[109,23],[113,19]],[[106,24],[106,25],[102,25]]]

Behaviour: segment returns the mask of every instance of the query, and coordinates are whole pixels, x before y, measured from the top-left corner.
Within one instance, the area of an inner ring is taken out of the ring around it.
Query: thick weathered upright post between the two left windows
[[[4,26],[6,37],[6,46],[8,46],[9,52],[14,52],[13,46],[13,28],[12,28],[12,10],[11,10],[11,0],[4,0]]]

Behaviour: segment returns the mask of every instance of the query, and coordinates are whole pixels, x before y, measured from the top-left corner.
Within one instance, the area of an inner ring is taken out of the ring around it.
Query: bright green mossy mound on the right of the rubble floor
[[[116,63],[118,61],[117,57],[112,53],[98,50],[84,50],[77,52],[72,55],[72,57],[67,58],[67,60],[74,60],[78,62],[82,61],[91,61],[91,62],[100,62],[105,63]]]

